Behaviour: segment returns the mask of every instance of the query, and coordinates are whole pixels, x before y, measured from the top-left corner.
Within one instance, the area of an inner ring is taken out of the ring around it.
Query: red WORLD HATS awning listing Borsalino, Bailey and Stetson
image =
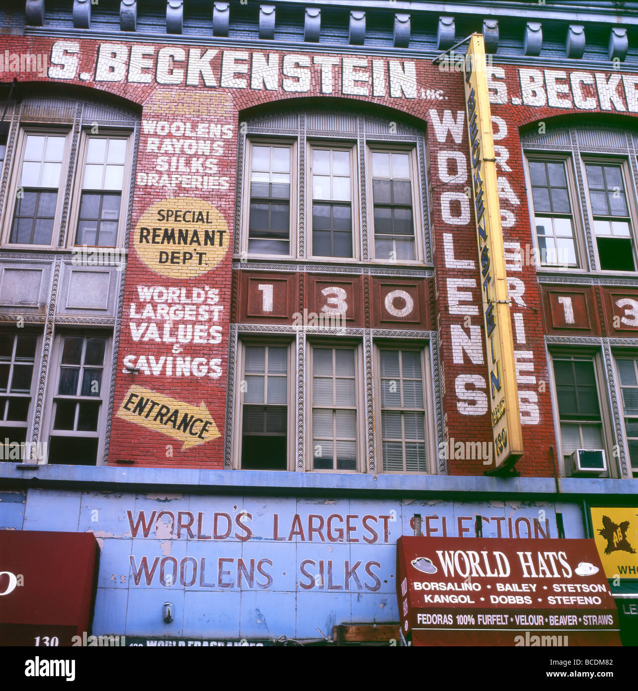
[[[403,536],[396,549],[412,645],[621,645],[594,540]]]

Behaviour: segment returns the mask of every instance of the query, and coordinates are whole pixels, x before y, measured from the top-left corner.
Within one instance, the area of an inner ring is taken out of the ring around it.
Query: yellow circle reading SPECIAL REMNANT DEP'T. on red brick
[[[169,278],[192,278],[224,258],[229,229],[220,212],[201,199],[177,197],[148,207],[135,228],[137,256]]]

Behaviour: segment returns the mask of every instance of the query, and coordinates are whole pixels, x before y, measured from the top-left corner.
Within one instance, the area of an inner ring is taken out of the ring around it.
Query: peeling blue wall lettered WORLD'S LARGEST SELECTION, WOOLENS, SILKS
[[[204,445],[205,448],[205,445]],[[184,471],[186,472],[186,471]],[[584,535],[575,504],[75,492],[0,493],[0,529],[95,535],[95,636],[331,638],[341,623],[389,623],[396,541],[414,533],[521,545]],[[3,565],[0,571],[12,571]],[[0,592],[8,580],[0,576]],[[19,590],[17,588],[15,591]],[[0,609],[10,596],[0,598]],[[163,607],[174,605],[164,623]]]

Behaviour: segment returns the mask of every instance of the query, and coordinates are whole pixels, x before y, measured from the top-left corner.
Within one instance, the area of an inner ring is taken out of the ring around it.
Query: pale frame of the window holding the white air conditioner
[[[557,443],[557,463],[563,477],[570,477],[567,474],[565,454],[563,454],[563,437],[561,435],[561,417],[559,413],[558,391],[556,384],[556,377],[554,373],[554,361],[563,359],[581,359],[590,360],[594,365],[594,375],[596,382],[596,392],[598,395],[598,406],[601,417],[601,433],[603,437],[603,449],[605,450],[605,457],[607,461],[607,473],[603,477],[619,477],[616,463],[612,461],[613,455],[610,453],[612,449],[612,441],[614,439],[612,434],[612,417],[610,415],[610,406],[608,398],[601,397],[601,391],[607,391],[606,379],[604,378],[604,367],[602,355],[599,350],[592,348],[558,348],[552,349],[548,352],[548,373],[550,375],[550,384],[552,387],[552,413],[554,417],[554,430],[556,434]],[[569,424],[569,423],[568,423]]]

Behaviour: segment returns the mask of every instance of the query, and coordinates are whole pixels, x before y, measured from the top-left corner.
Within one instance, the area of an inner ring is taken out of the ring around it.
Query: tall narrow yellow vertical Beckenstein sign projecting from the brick
[[[483,298],[494,462],[499,468],[515,463],[521,457],[523,433],[485,64],[483,37],[473,34],[465,56],[465,110],[479,240],[479,281]]]

